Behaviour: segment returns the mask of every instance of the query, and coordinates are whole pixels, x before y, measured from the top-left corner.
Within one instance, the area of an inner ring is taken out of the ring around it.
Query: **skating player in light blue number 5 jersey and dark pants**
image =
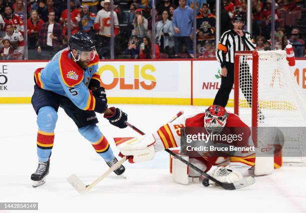
[[[37,114],[38,167],[31,175],[33,187],[43,184],[48,174],[58,107],[63,108],[76,124],[78,132],[90,141],[109,167],[117,159],[96,126],[95,112],[103,113],[104,118],[116,127],[126,127],[126,113],[107,107],[105,90],[100,87],[99,58],[94,42],[87,34],[78,32],[70,37],[68,44],[69,47],[54,55],[45,68],[34,73],[31,103]],[[121,165],[114,173],[120,175],[124,170]]]

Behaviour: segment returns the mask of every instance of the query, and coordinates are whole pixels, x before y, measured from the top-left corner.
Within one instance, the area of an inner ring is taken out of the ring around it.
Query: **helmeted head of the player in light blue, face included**
[[[69,39],[69,49],[72,52],[72,49],[77,51],[76,58],[73,58],[75,61],[84,60],[91,61],[94,59],[96,51],[94,46],[94,41],[83,32],[77,32],[73,34]]]

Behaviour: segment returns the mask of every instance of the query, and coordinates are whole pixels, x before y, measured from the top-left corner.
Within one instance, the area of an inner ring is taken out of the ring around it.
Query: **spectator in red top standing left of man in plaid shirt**
[[[27,20],[27,35],[28,35],[28,48],[35,49],[38,40],[38,34],[43,21],[39,19],[38,12],[32,10],[30,18]]]

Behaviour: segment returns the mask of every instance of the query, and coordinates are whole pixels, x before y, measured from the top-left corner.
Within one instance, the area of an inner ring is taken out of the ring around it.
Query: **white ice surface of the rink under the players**
[[[128,114],[131,124],[147,133],[157,130],[179,110],[190,114],[205,109],[115,106]],[[49,175],[44,185],[33,188],[30,174],[37,167],[34,110],[30,104],[8,104],[0,105],[0,114],[0,202],[38,202],[38,212],[306,212],[305,164],[283,166],[271,175],[256,177],[253,185],[226,191],[200,183],[174,183],[169,174],[169,156],[164,151],[148,162],[125,162],[126,179],[111,173],[87,194],[80,195],[66,178],[75,173],[89,184],[108,167],[62,109],[58,112]],[[113,137],[138,135],[128,127],[111,126],[102,116],[98,119],[115,154],[118,150]]]

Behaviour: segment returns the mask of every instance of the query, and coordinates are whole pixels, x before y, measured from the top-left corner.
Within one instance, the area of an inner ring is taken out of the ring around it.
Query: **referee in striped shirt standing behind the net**
[[[216,51],[216,58],[221,66],[221,86],[218,90],[213,104],[225,107],[228,101],[229,93],[234,82],[234,54],[236,51],[253,51],[256,45],[250,38],[250,34],[242,31],[244,20],[238,14],[233,18],[233,29],[223,33],[218,48]],[[247,63],[245,66],[248,68]],[[248,68],[249,70],[249,68]],[[249,72],[246,72],[242,79],[251,79]],[[243,84],[243,81],[241,82]],[[246,84],[247,82],[245,82]],[[244,94],[248,104],[251,106],[251,97],[246,93],[251,91],[250,83],[248,85],[240,85],[242,93]],[[250,94],[250,93],[249,93]]]

